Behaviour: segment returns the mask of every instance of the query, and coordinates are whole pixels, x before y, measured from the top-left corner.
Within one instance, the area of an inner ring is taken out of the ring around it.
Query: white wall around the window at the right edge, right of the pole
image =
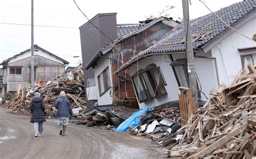
[[[256,33],[256,18],[248,21],[238,31],[252,38]],[[230,84],[238,71],[242,69],[240,55],[256,53],[256,50],[238,52],[238,48],[253,46],[256,46],[255,42],[233,32],[211,49],[212,56],[217,59],[220,83]]]

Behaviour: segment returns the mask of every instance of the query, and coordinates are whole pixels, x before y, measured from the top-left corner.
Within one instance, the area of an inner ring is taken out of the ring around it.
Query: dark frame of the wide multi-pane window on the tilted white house
[[[164,90],[165,90],[164,93],[161,93],[160,88],[159,88],[159,83],[157,85],[157,79],[153,75],[152,68],[155,68],[157,70],[158,75],[160,75],[159,76],[159,78],[160,78],[159,81],[161,81],[161,84],[163,84],[163,86],[164,86],[163,87]],[[153,88],[153,91],[154,91],[154,96],[153,97],[150,96],[149,86],[147,86],[147,84],[145,83],[145,79],[143,77],[144,73],[146,73],[147,77],[149,78],[150,84],[151,84],[151,86]],[[134,80],[133,78],[137,78],[138,79],[138,77],[139,77],[140,83],[142,84],[143,91],[145,92],[145,95],[146,95],[146,99],[143,99],[143,100],[139,99],[139,92],[136,89],[136,86],[134,85],[134,81],[133,81]],[[160,67],[157,67],[156,64],[154,64],[154,63],[152,63],[149,66],[145,67],[144,69],[141,69],[141,70],[137,71],[136,73],[134,73],[131,76],[131,81],[132,81],[132,84],[133,84],[133,88],[134,88],[134,90],[136,92],[136,95],[138,97],[139,103],[144,103],[147,100],[167,95],[167,91],[165,89],[165,86],[167,85],[167,83],[165,81],[165,78],[163,77],[163,73],[161,72]]]

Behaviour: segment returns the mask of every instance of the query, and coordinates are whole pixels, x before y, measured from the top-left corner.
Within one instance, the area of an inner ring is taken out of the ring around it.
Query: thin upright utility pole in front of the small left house
[[[31,0],[31,86],[35,85],[34,79],[34,2]]]

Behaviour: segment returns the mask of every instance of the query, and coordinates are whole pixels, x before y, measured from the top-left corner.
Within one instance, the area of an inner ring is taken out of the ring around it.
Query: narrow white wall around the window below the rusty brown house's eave
[[[111,83],[111,88],[107,90],[102,96],[99,96],[99,85],[98,85],[98,76],[102,73],[107,67],[109,67],[109,78]],[[109,59],[100,58],[97,61],[97,65],[95,66],[95,83],[96,83],[96,94],[98,99],[98,105],[109,105],[113,103],[112,95],[113,95],[113,82],[112,82],[112,72],[111,72],[111,64]]]

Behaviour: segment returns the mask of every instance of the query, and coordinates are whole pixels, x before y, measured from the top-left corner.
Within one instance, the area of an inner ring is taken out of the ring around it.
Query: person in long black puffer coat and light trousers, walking
[[[35,97],[29,104],[29,109],[32,113],[30,122],[34,125],[35,137],[43,136],[43,122],[46,121],[44,117],[45,105],[40,93],[35,93]]]

